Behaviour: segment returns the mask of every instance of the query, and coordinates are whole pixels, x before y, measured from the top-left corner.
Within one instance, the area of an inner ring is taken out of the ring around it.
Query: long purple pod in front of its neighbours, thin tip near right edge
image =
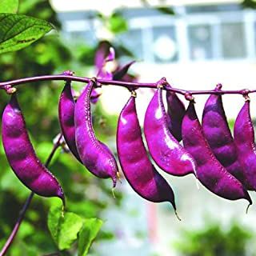
[[[250,195],[238,179],[234,178],[215,158],[198,121],[194,102],[186,110],[182,121],[183,144],[197,162],[198,180],[214,194],[230,200],[245,198],[252,204]]]

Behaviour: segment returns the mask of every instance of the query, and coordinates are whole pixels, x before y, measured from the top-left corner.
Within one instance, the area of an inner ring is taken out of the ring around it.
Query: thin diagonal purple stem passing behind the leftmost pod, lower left
[[[62,134],[59,134],[58,141],[54,143],[53,149],[51,150],[48,158],[46,159],[46,164],[45,164],[46,167],[49,166],[50,161],[54,157],[54,154],[55,154],[56,150],[58,149],[59,146],[61,146],[61,143],[60,143],[61,139],[62,139]],[[2,250],[0,252],[0,256],[6,255],[7,250],[9,250],[12,242],[14,242],[14,238],[15,238],[16,234],[18,233],[19,226],[22,224],[22,221],[23,221],[23,219],[25,217],[25,214],[26,214],[26,210],[29,208],[30,202],[31,202],[33,197],[34,197],[34,192],[31,192],[29,197],[26,198],[26,202],[22,206],[22,210],[20,211],[20,213],[18,215],[18,220],[15,223],[14,228],[11,231],[9,238],[6,241],[6,244],[2,247]]]

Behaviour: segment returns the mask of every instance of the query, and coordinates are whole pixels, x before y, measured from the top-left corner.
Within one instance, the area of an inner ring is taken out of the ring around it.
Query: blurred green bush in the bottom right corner
[[[186,256],[243,256],[251,232],[233,222],[223,230],[217,222],[206,224],[202,230],[183,230],[181,240],[174,243],[179,254]]]

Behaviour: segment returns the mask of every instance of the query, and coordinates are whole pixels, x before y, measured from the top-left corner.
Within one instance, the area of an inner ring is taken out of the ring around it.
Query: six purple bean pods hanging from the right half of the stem
[[[144,119],[146,143],[154,162],[168,174],[194,174],[214,194],[230,200],[244,198],[250,206],[247,190],[255,190],[256,150],[249,97],[246,95],[245,106],[238,114],[233,139],[220,94],[208,98],[201,126],[194,98],[189,98],[185,109],[176,94],[167,92],[166,112],[162,99],[165,84],[163,78],[157,83]],[[218,85],[215,90],[220,89]],[[135,95],[132,94],[118,120],[117,148],[122,171],[143,198],[151,202],[169,201],[176,210],[174,193],[151,164],[142,142]]]

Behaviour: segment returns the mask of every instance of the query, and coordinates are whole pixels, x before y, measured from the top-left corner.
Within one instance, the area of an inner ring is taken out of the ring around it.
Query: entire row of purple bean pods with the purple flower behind
[[[98,76],[109,80],[126,81],[127,70],[133,64],[118,67],[114,73],[105,70],[103,63],[114,59],[99,54]],[[70,71],[64,74],[72,75]],[[113,188],[118,178],[118,163],[106,144],[94,133],[91,103],[98,100],[95,88],[101,86],[91,78],[75,100],[71,82],[66,81],[58,104],[62,135],[70,152],[98,178],[111,178]],[[202,125],[194,108],[194,98],[186,95],[186,108],[174,92],[166,92],[167,111],[162,93],[170,86],[165,78],[156,83],[157,90],[150,100],[144,119],[146,146],[136,110],[138,88],[131,92],[118,118],[117,152],[122,173],[130,186],[150,202],[170,202],[176,214],[174,191],[151,163],[167,174],[194,176],[212,193],[229,200],[246,199],[252,204],[248,190],[256,190],[256,146],[254,126],[250,118],[250,98],[243,94],[244,106],[234,123],[234,138],[222,106],[222,86],[218,84],[206,101]],[[9,104],[2,114],[2,143],[6,158],[18,178],[34,193],[58,197],[65,204],[62,187],[50,170],[40,162],[26,131],[16,92],[11,92]],[[181,143],[182,141],[182,143]],[[176,214],[177,215],[177,214]],[[177,215],[178,216],[178,215]]]

